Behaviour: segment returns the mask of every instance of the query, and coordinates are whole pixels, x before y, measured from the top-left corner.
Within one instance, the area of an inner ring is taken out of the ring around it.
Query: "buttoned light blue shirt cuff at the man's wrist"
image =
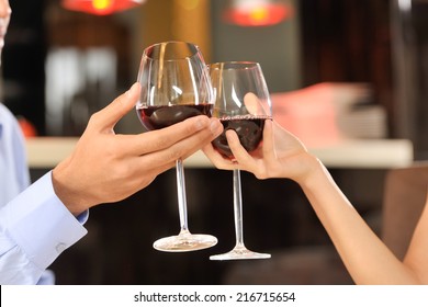
[[[88,212],[77,219],[67,209],[54,192],[52,171],[8,204],[5,218],[10,236],[40,269],[88,232],[81,224]]]

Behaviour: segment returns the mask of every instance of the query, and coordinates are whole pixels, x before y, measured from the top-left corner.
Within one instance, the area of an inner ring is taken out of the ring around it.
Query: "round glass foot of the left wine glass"
[[[184,252],[207,249],[217,243],[217,238],[211,235],[180,234],[159,239],[153,247],[159,251]]]

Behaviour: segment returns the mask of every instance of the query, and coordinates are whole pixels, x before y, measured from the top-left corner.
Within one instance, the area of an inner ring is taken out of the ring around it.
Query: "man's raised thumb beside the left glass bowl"
[[[99,124],[112,128],[137,103],[140,86],[135,82],[129,90],[117,96],[112,103],[99,112]]]

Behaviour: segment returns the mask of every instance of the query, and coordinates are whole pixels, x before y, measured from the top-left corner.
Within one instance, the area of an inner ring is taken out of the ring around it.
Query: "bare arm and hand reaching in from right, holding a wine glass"
[[[226,132],[235,160],[212,145],[205,155],[219,169],[240,169],[258,179],[289,178],[297,182],[331,238],[357,284],[428,284],[428,198],[403,261],[370,229],[323,163],[273,121],[266,121],[263,143],[249,155],[235,132]],[[427,190],[428,191],[428,190]]]

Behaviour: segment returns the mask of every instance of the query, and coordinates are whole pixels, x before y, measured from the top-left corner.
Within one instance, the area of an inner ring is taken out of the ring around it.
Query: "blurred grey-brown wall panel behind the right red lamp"
[[[270,26],[239,26],[224,22],[228,0],[211,1],[213,61],[258,61],[271,92],[301,88],[299,2],[294,13]]]

